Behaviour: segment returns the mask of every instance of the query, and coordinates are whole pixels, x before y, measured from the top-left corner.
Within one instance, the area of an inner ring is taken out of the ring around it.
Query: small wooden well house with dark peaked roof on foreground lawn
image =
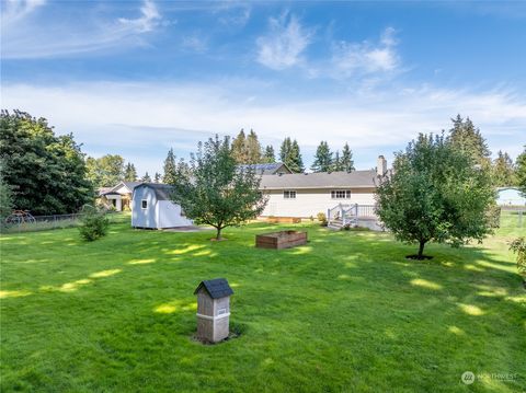
[[[197,294],[197,338],[218,343],[229,335],[230,296],[232,288],[225,278],[202,281]]]

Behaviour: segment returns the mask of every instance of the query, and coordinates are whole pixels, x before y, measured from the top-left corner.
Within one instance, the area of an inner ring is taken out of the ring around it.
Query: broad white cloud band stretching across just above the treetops
[[[266,85],[266,90],[273,86]],[[277,89],[277,88],[276,88]],[[358,167],[378,153],[403,149],[419,132],[449,128],[449,118],[470,116],[493,151],[516,157],[526,142],[526,99],[504,90],[456,91],[420,86],[377,95],[291,99],[261,96],[261,84],[76,83],[61,88],[5,84],[4,108],[48,118],[57,132],[75,132],[91,154],[121,152],[153,172],[169,147],[180,155],[213,134],[253,128],[264,143],[298,139],[306,161],[321,139],[336,149],[348,141]],[[272,94],[272,93],[271,93]],[[277,148],[277,146],[276,146]],[[361,157],[362,155],[362,157]]]

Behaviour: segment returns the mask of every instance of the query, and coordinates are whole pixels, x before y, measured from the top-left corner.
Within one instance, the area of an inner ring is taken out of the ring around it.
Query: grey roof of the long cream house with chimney
[[[370,188],[376,177],[375,170],[263,175],[260,189]]]

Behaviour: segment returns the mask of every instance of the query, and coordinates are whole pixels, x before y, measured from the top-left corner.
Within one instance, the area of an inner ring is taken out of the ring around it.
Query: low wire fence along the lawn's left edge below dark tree
[[[111,222],[116,219],[116,212],[107,212]],[[71,215],[50,215],[50,216],[31,216],[30,219],[12,220],[1,226],[2,233],[36,232],[53,229],[64,229],[77,227],[82,218],[82,213]]]

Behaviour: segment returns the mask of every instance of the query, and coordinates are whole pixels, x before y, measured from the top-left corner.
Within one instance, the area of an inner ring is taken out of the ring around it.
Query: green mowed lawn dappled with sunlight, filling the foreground
[[[93,243],[77,229],[3,235],[1,390],[524,391],[526,291],[506,242],[526,231],[510,220],[482,245],[431,245],[426,262],[389,234],[310,223],[228,229],[225,242],[126,217]],[[309,244],[254,247],[285,228]],[[216,277],[241,334],[202,345],[193,290]],[[465,371],[481,378],[466,385]]]

